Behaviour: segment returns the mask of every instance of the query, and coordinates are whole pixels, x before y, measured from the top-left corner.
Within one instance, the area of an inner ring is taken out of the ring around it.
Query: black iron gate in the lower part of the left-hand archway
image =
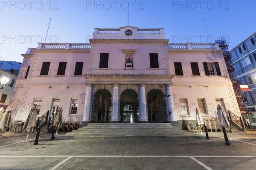
[[[103,105],[99,107],[95,101],[93,101],[92,109],[92,123],[109,123],[111,122],[111,103],[108,103],[107,106]]]

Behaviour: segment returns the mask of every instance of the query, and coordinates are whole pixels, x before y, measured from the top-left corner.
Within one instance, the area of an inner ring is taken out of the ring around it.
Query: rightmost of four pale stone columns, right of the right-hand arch
[[[173,95],[172,95],[172,84],[166,84],[166,92],[167,92],[167,103],[168,103],[168,110],[167,112],[169,115],[169,121],[177,121],[175,118],[175,112],[174,112],[174,101],[173,101]],[[170,114],[171,113],[171,114]]]

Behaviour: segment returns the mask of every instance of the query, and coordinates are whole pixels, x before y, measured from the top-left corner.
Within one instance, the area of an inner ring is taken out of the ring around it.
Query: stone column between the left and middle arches
[[[112,101],[112,113],[111,122],[119,122],[118,118],[118,86],[119,84],[113,84],[113,101]]]

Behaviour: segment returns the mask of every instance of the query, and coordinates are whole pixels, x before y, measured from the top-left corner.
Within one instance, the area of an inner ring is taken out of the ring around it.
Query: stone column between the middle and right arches
[[[146,95],[145,84],[140,84],[140,122],[147,123],[147,108],[146,108]]]

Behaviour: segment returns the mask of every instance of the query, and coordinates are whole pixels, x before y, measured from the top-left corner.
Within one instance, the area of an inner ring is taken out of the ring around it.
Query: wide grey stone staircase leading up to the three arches
[[[87,127],[73,130],[59,139],[84,137],[160,137],[193,135],[170,123],[89,123]]]

